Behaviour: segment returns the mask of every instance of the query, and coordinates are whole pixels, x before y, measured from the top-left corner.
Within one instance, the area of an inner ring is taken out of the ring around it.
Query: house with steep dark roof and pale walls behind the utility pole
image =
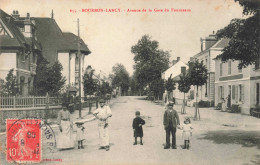
[[[79,78],[81,78],[82,82],[84,75],[85,56],[91,52],[78,36],[73,33],[62,32],[53,15],[52,12],[51,18],[33,18],[37,28],[36,35],[42,45],[43,57],[50,65],[59,61],[63,66],[62,75],[66,78],[66,85],[79,88]],[[79,68],[80,62],[81,68]],[[79,75],[80,69],[81,76]],[[83,86],[81,96],[84,96]]]

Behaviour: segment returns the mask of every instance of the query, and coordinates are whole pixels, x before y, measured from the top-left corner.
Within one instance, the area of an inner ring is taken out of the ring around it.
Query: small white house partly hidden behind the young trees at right
[[[162,73],[162,79],[168,80],[169,77],[173,78],[175,81],[175,87],[176,89],[170,93],[170,98],[174,97],[176,104],[182,103],[184,94],[179,91],[178,89],[178,81],[180,80],[180,75],[185,74],[186,70],[189,68],[188,65],[186,65],[184,62],[180,60],[180,57],[177,57],[177,60],[173,60],[172,66],[164,71]],[[165,91],[164,96],[167,94],[167,91]]]

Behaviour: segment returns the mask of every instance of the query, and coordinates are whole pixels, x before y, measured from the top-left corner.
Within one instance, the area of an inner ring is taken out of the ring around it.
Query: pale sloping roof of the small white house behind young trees
[[[189,68],[189,66],[186,65],[184,62],[178,61],[176,64],[174,64],[162,73],[162,75],[164,75],[163,79],[167,80],[170,76],[175,79],[176,76],[179,76],[181,74],[181,67],[186,67],[186,70]]]

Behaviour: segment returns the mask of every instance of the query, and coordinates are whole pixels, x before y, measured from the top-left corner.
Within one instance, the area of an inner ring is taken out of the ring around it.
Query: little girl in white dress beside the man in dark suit
[[[190,148],[190,137],[192,136],[192,126],[190,119],[188,117],[184,120],[184,125],[181,127],[183,130],[182,132],[182,138],[184,139],[184,147],[183,149],[189,149]]]

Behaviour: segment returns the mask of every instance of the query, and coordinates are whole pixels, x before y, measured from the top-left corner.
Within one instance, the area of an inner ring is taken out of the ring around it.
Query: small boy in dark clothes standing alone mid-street
[[[135,142],[134,145],[137,145],[137,137],[140,137],[140,144],[143,145],[143,127],[142,125],[145,124],[145,121],[140,117],[140,112],[135,112],[135,118],[133,120],[133,129],[134,129],[134,138]]]

